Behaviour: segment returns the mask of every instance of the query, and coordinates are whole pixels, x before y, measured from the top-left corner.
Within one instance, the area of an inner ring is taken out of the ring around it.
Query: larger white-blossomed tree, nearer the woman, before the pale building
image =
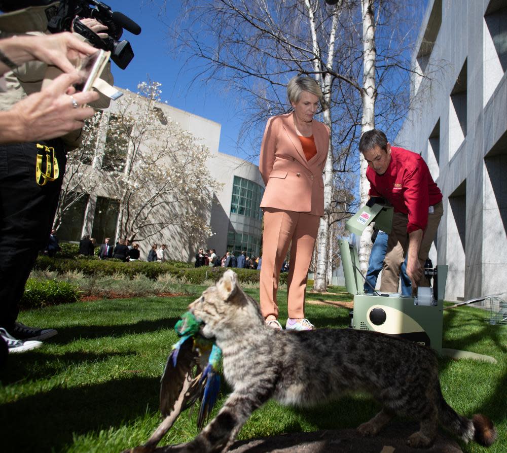
[[[118,236],[147,239],[179,227],[189,242],[211,234],[212,184],[208,149],[167,118],[161,84],[142,82],[115,104],[105,140],[102,169],[120,202]]]

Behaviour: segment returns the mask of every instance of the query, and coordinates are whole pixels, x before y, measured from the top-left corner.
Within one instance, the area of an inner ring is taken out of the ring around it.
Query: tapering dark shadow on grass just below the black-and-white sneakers
[[[10,358],[7,366],[0,371],[0,382],[3,385],[15,384],[16,382],[29,379],[47,379],[73,365],[84,363],[101,362],[112,357],[134,356],[136,351],[122,353],[85,353],[68,352],[55,356],[53,354],[41,354],[40,351],[28,351],[17,357]]]

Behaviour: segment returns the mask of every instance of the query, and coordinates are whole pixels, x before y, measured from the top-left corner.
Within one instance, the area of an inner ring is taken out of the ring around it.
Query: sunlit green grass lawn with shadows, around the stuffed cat
[[[58,335],[38,350],[11,355],[0,371],[0,451],[115,452],[145,442],[160,422],[159,380],[176,341],[173,326],[204,287],[186,286],[194,296],[78,302],[23,311],[19,321],[54,327]],[[343,288],[308,300],[350,301]],[[258,300],[258,289],[247,289]],[[286,300],[280,291],[279,300]],[[462,446],[465,452],[507,451],[507,329],[485,322],[473,307],[446,311],[444,347],[493,356],[497,364],[441,359],[442,389],[459,412],[482,412],[498,428],[489,448]],[[307,304],[316,327],[346,328],[349,310]],[[280,321],[287,317],[280,303]],[[222,405],[228,389],[222,386]],[[334,404],[300,410],[269,402],[256,411],[239,438],[284,432],[356,427],[378,405],[368,395],[347,396]],[[196,434],[195,417],[182,414],[161,444]]]

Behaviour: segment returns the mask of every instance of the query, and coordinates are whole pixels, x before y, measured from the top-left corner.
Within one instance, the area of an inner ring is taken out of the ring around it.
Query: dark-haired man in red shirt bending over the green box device
[[[442,193],[422,157],[391,147],[381,130],[365,132],[359,151],[368,162],[370,195],[383,197],[394,207],[380,290],[397,292],[400,268],[408,253],[407,274],[414,293],[417,286],[429,286],[423,268],[444,211]]]

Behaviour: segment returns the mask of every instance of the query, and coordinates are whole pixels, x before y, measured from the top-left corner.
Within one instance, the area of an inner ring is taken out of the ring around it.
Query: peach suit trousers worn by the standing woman
[[[320,216],[295,211],[264,208],[262,237],[261,312],[264,318],[278,318],[276,293],[280,269],[288,246],[291,257],[287,277],[287,305],[289,318],[304,318],[306,283],[317,237]]]

